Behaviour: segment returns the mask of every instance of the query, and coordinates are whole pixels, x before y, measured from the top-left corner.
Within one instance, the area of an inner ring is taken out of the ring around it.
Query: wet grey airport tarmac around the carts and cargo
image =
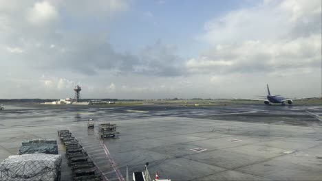
[[[146,162],[160,179],[322,180],[322,121],[306,112],[321,116],[322,106],[21,107],[0,112],[0,162],[32,138],[56,138],[64,157],[57,130],[69,129],[105,180],[125,180],[127,165],[131,176]],[[108,122],[120,134],[98,138]],[[72,180],[65,158],[61,169]]]

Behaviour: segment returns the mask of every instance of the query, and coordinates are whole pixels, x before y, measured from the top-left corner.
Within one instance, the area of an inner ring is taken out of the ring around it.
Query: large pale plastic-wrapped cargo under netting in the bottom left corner
[[[61,155],[23,154],[9,156],[0,163],[1,181],[56,181],[61,174]]]

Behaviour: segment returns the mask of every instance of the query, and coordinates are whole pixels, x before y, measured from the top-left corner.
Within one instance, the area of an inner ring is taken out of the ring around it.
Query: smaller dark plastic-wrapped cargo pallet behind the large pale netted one
[[[21,143],[18,154],[58,154],[54,139],[34,139]]]

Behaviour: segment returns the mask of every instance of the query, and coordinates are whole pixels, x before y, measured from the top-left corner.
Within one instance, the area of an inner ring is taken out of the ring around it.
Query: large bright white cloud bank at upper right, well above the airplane
[[[320,12],[316,14],[316,11]],[[297,25],[313,21],[320,24]],[[192,73],[272,73],[316,69],[321,62],[321,1],[266,1],[205,25],[211,48],[186,62]]]

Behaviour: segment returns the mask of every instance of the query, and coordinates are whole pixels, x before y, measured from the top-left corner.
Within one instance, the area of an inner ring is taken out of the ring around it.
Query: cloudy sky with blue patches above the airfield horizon
[[[321,0],[0,0],[0,99],[321,96]]]

